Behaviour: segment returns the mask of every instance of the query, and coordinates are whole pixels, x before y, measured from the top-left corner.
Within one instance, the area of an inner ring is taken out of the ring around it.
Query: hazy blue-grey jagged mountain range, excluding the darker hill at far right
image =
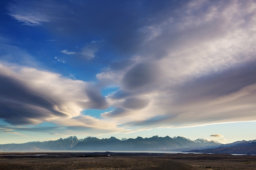
[[[216,141],[197,139],[192,141],[185,137],[137,137],[122,139],[115,137],[98,139],[86,137],[77,139],[75,136],[56,141],[28,142],[25,144],[3,144],[0,150],[137,150],[137,151],[184,151],[192,149],[217,148],[221,146]]]

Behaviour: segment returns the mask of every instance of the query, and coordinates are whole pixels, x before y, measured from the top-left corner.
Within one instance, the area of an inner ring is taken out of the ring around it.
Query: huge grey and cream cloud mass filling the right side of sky
[[[150,18],[137,29],[139,60],[97,75],[120,86],[107,99],[118,109],[103,116],[141,129],[255,121],[255,9],[253,1],[194,0]],[[141,96],[150,102],[132,110]]]

